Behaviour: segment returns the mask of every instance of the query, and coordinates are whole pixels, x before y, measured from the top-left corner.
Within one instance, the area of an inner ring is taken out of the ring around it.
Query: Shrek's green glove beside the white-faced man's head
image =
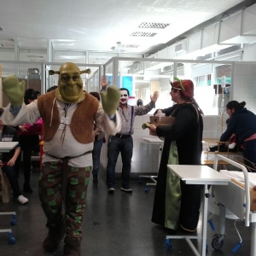
[[[111,115],[115,113],[116,109],[119,106],[120,101],[120,91],[115,86],[108,86],[108,90],[102,91],[102,108],[105,113]]]

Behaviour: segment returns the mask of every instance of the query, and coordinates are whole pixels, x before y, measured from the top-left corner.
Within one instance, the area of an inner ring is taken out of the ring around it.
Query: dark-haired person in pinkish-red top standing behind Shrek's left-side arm
[[[25,104],[29,104],[38,99],[39,92],[33,89],[26,89],[24,95]],[[41,119],[42,120],[42,119]],[[32,172],[32,152],[39,149],[39,135],[42,128],[42,122],[31,124],[18,125],[20,135],[20,146],[23,152],[23,174],[24,184],[23,191],[32,193],[30,185],[30,177]]]

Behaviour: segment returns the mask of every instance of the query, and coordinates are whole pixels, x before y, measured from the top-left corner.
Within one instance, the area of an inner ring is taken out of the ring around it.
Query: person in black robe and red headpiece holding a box
[[[201,185],[188,185],[168,171],[167,165],[201,165],[203,121],[201,109],[194,99],[191,80],[171,83],[171,108],[159,109],[175,117],[172,125],[150,125],[149,130],[165,137],[154,195],[152,222],[185,232],[194,232],[199,220]],[[189,172],[189,168],[187,170]]]

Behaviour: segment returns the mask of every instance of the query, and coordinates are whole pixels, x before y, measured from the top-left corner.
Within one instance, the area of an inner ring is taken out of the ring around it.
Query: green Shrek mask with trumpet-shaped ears
[[[90,69],[80,71],[72,62],[61,65],[60,71],[49,70],[49,75],[59,74],[58,88],[55,97],[65,103],[79,103],[84,100],[82,73],[90,73]]]

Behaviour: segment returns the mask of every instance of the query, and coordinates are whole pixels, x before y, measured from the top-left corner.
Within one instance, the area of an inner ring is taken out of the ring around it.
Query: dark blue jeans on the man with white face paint
[[[114,188],[115,166],[121,153],[122,157],[122,188],[128,189],[131,174],[131,157],[133,151],[132,137],[119,138],[109,137],[108,141],[108,166],[107,166],[107,185],[108,188]]]

